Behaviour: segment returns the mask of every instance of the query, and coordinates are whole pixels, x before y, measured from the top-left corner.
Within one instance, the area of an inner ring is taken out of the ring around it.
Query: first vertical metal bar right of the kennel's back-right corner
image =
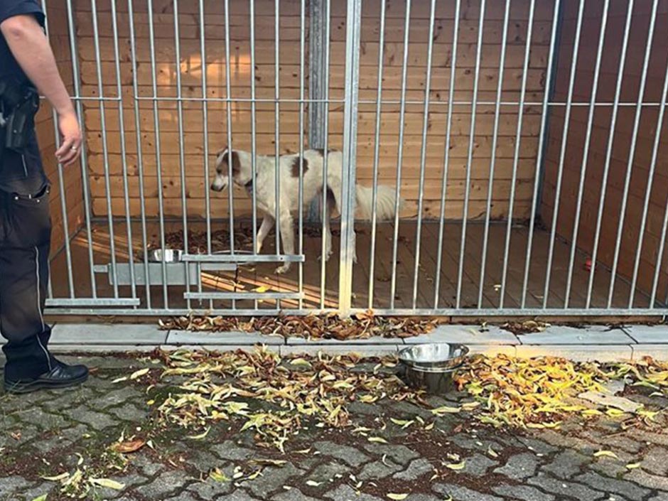
[[[559,198],[561,197],[561,181],[564,178],[564,161],[566,160],[566,146],[569,144],[569,126],[571,125],[571,109],[573,102],[573,90],[575,89],[575,77],[578,68],[578,55],[580,52],[580,35],[582,31],[582,19],[584,14],[585,0],[580,1],[578,8],[578,22],[576,24],[575,41],[573,43],[573,58],[571,58],[571,75],[569,81],[569,92],[566,97],[566,114],[564,117],[564,134],[561,137],[561,151],[559,153],[559,169],[556,175],[556,193],[554,195],[554,211],[552,213],[552,227],[550,235],[549,250],[547,252],[547,266],[545,271],[545,288],[543,289],[543,308],[547,308],[550,292],[550,276],[552,271],[552,257],[554,256],[554,243],[556,242],[556,222],[559,219]]]

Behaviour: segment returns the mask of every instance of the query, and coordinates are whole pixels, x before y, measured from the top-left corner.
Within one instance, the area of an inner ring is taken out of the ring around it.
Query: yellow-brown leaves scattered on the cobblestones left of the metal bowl
[[[259,445],[284,451],[289,436],[304,421],[340,428],[351,424],[350,402],[381,399],[419,402],[419,392],[407,388],[392,370],[397,362],[382,359],[374,370],[352,370],[355,355],[318,355],[281,359],[274,352],[163,353],[162,377],[185,376],[185,382],[159,404],[161,418],[204,438],[216,421],[242,419],[241,431],[253,430]],[[268,410],[269,409],[269,410]]]

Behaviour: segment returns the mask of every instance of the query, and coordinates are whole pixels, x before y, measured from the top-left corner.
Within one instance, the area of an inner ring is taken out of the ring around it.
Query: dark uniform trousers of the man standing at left
[[[5,379],[33,379],[54,360],[43,318],[48,293],[49,185],[32,134],[21,153],[0,158],[0,332],[8,340]]]

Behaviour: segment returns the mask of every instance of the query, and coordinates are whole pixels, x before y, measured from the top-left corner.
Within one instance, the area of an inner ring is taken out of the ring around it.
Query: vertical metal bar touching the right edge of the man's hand
[[[70,54],[72,55],[72,82],[75,95],[81,95],[81,79],[79,75],[79,57],[77,52],[77,30],[74,23],[74,11],[72,9],[72,0],[67,0],[68,6],[68,34],[70,38]],[[81,122],[81,131],[85,135],[85,123],[82,104],[79,99],[76,101],[77,115]],[[86,221],[86,239],[88,244],[88,271],[90,272],[90,289],[92,298],[97,298],[97,281],[95,279],[95,260],[93,259],[92,228],[90,224],[90,187],[88,185],[88,157],[85,142],[81,145],[81,184],[84,198],[84,217]],[[71,264],[71,263],[70,263]]]

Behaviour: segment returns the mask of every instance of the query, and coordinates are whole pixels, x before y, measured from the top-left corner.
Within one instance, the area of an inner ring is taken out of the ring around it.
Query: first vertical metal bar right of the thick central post
[[[377,207],[376,199],[378,192],[378,159],[380,153],[380,126],[382,124],[382,95],[383,95],[383,68],[385,57],[385,2],[380,2],[380,31],[378,34],[378,94],[376,96],[376,129],[374,138],[373,152],[373,199],[371,202],[371,250],[370,250],[370,268],[369,268],[369,309],[373,308],[373,294],[375,284],[375,265],[376,265],[376,230],[377,230]]]

